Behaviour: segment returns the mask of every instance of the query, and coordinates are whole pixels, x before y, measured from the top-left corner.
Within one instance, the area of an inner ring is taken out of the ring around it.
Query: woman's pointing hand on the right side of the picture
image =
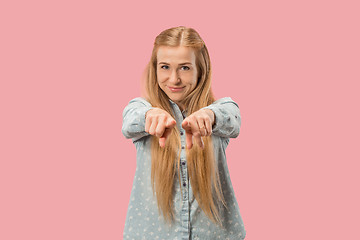
[[[186,146],[192,148],[194,141],[204,148],[204,142],[201,137],[210,136],[212,125],[215,122],[215,114],[210,109],[200,109],[184,119],[181,126],[186,133]]]

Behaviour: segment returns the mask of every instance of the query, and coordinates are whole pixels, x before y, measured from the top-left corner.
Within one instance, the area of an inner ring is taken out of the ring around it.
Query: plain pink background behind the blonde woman
[[[246,239],[360,239],[359,16],[340,0],[2,1],[0,239],[122,239],[122,110],[180,25],[240,107],[227,154]]]

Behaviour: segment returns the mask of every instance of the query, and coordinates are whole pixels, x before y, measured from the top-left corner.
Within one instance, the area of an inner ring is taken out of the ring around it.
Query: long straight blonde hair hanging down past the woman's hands
[[[157,82],[157,51],[160,46],[185,46],[194,49],[198,83],[195,89],[183,100],[187,114],[190,115],[213,103],[215,98],[211,90],[211,64],[206,45],[194,29],[180,26],[164,30],[155,38],[151,59],[147,66],[145,83],[146,98],[151,105],[167,111],[175,119],[169,97],[162,91]],[[165,220],[172,221],[174,217],[173,184],[176,171],[179,173],[179,183],[181,183],[179,129],[174,127],[164,148],[160,147],[157,137],[151,137],[152,188],[157,197],[159,212],[162,212]],[[225,207],[226,204],[221,191],[211,136],[203,137],[203,141],[204,150],[197,144],[194,144],[190,150],[186,149],[190,183],[201,209],[214,223],[221,226],[218,207],[220,202]]]

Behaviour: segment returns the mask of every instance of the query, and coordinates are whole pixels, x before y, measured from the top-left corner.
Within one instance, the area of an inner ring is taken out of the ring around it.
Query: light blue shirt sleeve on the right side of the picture
[[[225,138],[236,138],[239,135],[240,109],[230,97],[220,98],[204,108],[212,110],[215,114],[212,134]]]

